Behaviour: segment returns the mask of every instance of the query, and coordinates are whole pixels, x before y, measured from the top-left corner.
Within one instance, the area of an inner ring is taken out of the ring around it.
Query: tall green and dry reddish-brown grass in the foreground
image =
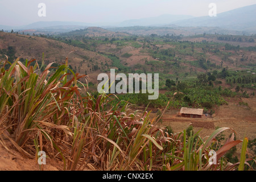
[[[129,102],[114,95],[82,97],[77,82],[88,76],[73,73],[68,57],[51,71],[52,63],[41,70],[33,61],[0,62],[0,141],[7,150],[6,138],[31,158],[45,151],[63,162],[64,170],[234,170],[250,160],[245,143],[241,163],[226,162],[224,154],[242,142],[231,137],[216,151],[217,164],[210,165],[214,138],[228,128],[208,139],[186,131],[168,134],[157,127],[159,118],[131,111]]]

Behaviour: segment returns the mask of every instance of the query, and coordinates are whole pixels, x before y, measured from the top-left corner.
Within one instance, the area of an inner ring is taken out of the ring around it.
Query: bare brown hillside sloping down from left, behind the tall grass
[[[101,69],[104,69],[106,63],[112,64],[112,60],[97,52],[73,47],[63,42],[37,36],[0,32],[0,50],[3,52],[9,47],[14,48],[16,57],[28,60],[36,59],[40,61],[44,53],[46,64],[53,61],[63,64],[68,56],[68,64],[71,65],[73,70],[81,74],[87,73],[93,81],[97,80],[97,75],[101,72]],[[69,53],[74,50],[76,51]],[[1,53],[0,56],[4,57]],[[93,71],[94,66],[97,69]]]

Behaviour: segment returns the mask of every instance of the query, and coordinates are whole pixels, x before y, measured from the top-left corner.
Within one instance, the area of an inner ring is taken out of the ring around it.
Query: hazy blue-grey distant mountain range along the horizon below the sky
[[[155,26],[155,27],[218,27],[222,30],[241,31],[246,34],[256,34],[256,4],[241,7],[239,9],[217,14],[216,17],[189,15],[160,15],[157,17],[125,20],[119,23],[83,23],[83,22],[35,22],[26,26],[11,27],[0,25],[2,30],[37,30],[43,32],[69,32],[87,27],[132,27],[132,26]]]

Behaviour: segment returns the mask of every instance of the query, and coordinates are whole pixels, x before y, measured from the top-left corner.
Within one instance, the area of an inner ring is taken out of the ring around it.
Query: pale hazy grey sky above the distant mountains
[[[38,16],[38,4],[46,16]],[[217,13],[256,4],[256,0],[0,0],[0,24],[22,26],[38,21],[121,22],[162,14],[205,16],[209,3]]]

